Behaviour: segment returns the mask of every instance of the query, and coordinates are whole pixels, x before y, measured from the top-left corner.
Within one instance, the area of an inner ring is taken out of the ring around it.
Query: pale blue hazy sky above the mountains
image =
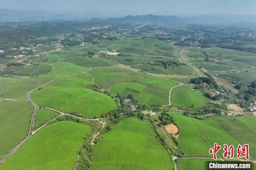
[[[0,0],[16,10],[109,11],[120,15],[256,14],[256,0]]]

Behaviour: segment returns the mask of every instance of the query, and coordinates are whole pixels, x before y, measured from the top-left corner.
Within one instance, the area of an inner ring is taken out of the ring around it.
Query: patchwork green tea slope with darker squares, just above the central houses
[[[122,96],[132,94],[142,104],[167,105],[169,91],[178,82],[168,78],[156,78],[120,67],[97,68],[89,71],[94,83]]]

